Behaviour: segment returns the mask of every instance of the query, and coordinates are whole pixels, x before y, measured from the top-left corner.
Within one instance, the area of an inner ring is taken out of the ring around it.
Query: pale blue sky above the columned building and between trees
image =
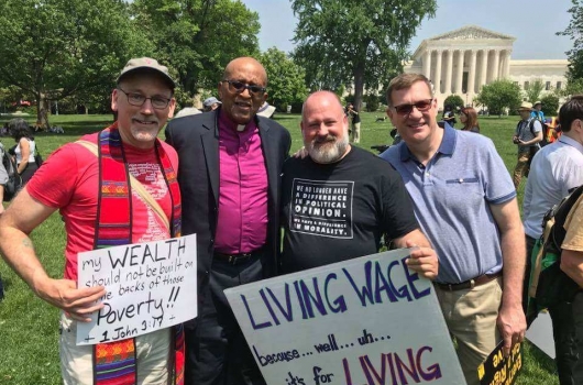
[[[289,0],[242,0],[260,14],[260,47],[289,52],[297,20]],[[358,1],[358,0],[355,0]],[[437,0],[436,16],[424,20],[410,44],[413,53],[424,38],[475,24],[516,37],[514,59],[566,58],[572,47],[569,37],[557,36],[571,14],[571,0]]]

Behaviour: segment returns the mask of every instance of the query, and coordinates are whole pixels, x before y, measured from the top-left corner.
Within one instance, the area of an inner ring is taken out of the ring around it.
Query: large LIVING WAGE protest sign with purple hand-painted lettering
[[[224,290],[270,385],[465,384],[409,250]]]

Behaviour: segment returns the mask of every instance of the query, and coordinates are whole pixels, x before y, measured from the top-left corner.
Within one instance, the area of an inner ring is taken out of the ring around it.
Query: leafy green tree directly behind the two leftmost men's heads
[[[224,66],[257,56],[258,15],[234,0],[135,0],[136,22],[189,96],[216,89]]]

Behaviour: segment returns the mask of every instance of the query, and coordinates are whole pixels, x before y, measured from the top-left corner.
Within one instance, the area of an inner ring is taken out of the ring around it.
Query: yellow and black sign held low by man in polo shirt
[[[513,385],[516,381],[516,375],[522,367],[521,344],[514,345],[508,358],[504,356],[503,346],[504,341],[498,343],[486,361],[477,369],[481,385]]]

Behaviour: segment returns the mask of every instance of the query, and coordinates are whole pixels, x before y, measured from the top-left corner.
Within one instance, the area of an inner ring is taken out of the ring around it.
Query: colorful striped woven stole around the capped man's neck
[[[129,169],[117,122],[99,133],[99,200],[95,249],[132,242],[132,191]],[[158,140],[155,151],[172,199],[172,237],[180,237],[180,190],[176,173]],[[174,384],[184,384],[185,345],[183,326],[174,327],[175,354],[168,371]],[[170,375],[172,377],[172,375]],[[99,343],[94,346],[94,383],[96,385],[133,385],[136,383],[135,339]],[[168,381],[168,383],[170,383]]]

